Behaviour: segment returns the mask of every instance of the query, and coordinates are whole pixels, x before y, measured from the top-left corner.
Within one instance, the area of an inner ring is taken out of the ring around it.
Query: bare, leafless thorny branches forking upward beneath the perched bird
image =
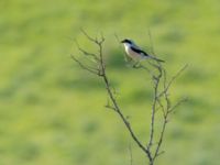
[[[87,72],[95,74],[102,79],[103,84],[106,85],[108,97],[110,99],[110,102],[108,102],[106,107],[113,110],[119,116],[119,118],[124,123],[133,141],[146,154],[150,165],[154,165],[156,157],[164,153],[164,151],[161,151],[161,146],[164,139],[166,124],[168,123],[169,114],[176,109],[176,107],[178,107],[182,102],[186,100],[186,99],[182,99],[177,101],[174,106],[172,106],[168,91],[173,81],[183,73],[183,70],[187,67],[187,65],[184,66],[176,75],[174,75],[168,82],[167,82],[165,68],[157,62],[155,62],[156,64],[148,62],[150,66],[156,69],[156,73],[152,72],[148,67],[145,67],[143,65],[134,66],[134,68],[142,68],[151,75],[152,81],[153,81],[153,89],[154,89],[153,90],[154,97],[153,97],[152,108],[151,108],[152,114],[151,114],[150,140],[147,142],[147,145],[144,146],[144,144],[140,141],[134,130],[132,129],[131,123],[129,122],[128,118],[123,114],[121,107],[119,106],[119,102],[117,100],[114,88],[110,84],[110,80],[106,70],[105,59],[103,59],[103,43],[105,43],[103,35],[101,35],[100,37],[91,37],[84,30],[81,30],[81,33],[87,37],[87,40],[89,40],[92,44],[97,46],[98,52],[97,53],[87,52],[86,50],[81,48],[79,44],[76,42],[77,48],[84,56],[95,59],[95,64],[94,66],[88,66],[85,63],[80,62],[78,58],[76,58],[76,56],[74,55],[72,55],[72,58],[82,69],[86,69]],[[153,47],[152,47],[152,51],[153,51]],[[163,123],[162,123],[161,133],[157,135],[157,140],[156,140],[155,116],[156,116],[157,110],[162,111]],[[155,148],[152,147],[153,144],[155,145]],[[132,164],[132,161],[131,161],[131,164]]]

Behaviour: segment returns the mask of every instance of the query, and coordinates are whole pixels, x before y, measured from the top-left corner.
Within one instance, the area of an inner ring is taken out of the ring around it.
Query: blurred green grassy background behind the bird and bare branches
[[[1,0],[0,165],[147,164],[118,116],[105,108],[101,81],[72,59],[80,33],[103,33],[105,57],[124,114],[148,140],[152,82],[127,66],[116,38],[133,38],[165,59],[168,76],[188,64],[170,97],[189,101],[173,116],[157,165],[219,165],[219,0]],[[157,120],[160,129],[161,120]]]

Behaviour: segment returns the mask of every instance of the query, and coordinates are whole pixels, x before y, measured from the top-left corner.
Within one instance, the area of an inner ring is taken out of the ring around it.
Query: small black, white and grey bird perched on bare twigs
[[[164,61],[156,58],[153,55],[147,54],[144,52],[142,48],[140,48],[132,40],[124,38],[121,41],[121,43],[124,45],[125,53],[128,54],[129,57],[131,57],[134,61],[142,61],[142,59],[154,59],[160,63],[164,63]]]

